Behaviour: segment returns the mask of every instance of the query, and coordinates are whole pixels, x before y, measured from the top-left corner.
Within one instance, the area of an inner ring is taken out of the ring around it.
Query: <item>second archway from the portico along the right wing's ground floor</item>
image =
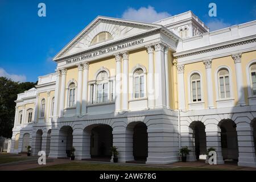
[[[225,162],[238,161],[238,140],[236,123],[230,119],[220,122],[221,128],[221,151]]]

